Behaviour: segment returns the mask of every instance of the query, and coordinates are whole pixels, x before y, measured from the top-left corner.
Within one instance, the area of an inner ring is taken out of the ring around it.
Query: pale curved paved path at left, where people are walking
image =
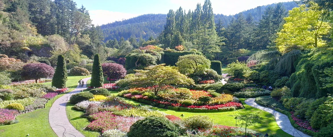
[[[69,101],[71,95],[81,92],[81,90],[87,89],[87,81],[90,79],[85,78],[82,79],[85,84],[83,87],[76,87],[75,90],[65,94],[64,96],[57,99],[53,105],[51,106],[49,112],[49,123],[51,125],[52,130],[59,136],[59,137],[85,137],[82,135],[72,124],[69,122],[67,115],[66,115],[66,102]]]

